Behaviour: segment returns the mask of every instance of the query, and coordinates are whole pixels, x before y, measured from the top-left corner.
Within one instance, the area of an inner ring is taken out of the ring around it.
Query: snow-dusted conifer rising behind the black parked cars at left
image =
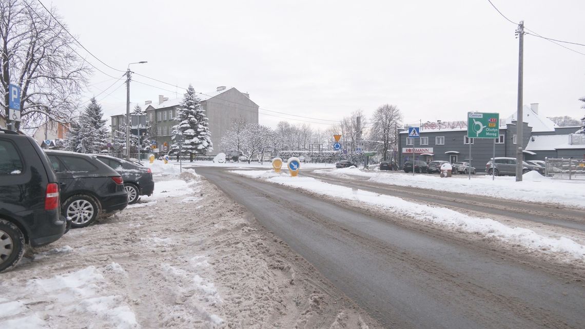
[[[108,128],[106,120],[102,119],[104,112],[94,98],[85,107],[77,125],[72,125],[66,141],[68,150],[80,153],[98,153],[108,143]]]

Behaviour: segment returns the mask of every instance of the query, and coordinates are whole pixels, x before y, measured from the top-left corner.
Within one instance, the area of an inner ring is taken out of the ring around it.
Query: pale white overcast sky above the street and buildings
[[[487,0],[42,1],[56,6],[70,32],[106,64],[126,70],[146,60],[132,70],[180,87],[191,83],[199,92],[236,87],[260,106],[260,124],[273,127],[288,120],[326,128],[333,122],[316,119],[357,109],[370,116],[382,104],[397,105],[406,123],[516,110],[517,26]],[[542,36],[585,44],[585,1],[492,2]],[[585,54],[583,46],[565,45]],[[585,55],[531,35],[524,54],[524,104],[539,103],[546,116],[581,118]],[[132,102],[184,92],[133,80]],[[88,96],[101,93],[98,100],[121,104],[123,112],[123,81],[103,92],[112,83],[96,70]]]

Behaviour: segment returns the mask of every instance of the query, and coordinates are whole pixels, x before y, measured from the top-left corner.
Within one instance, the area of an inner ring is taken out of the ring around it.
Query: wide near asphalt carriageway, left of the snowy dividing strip
[[[197,172],[384,327],[585,328],[582,273],[217,167]]]

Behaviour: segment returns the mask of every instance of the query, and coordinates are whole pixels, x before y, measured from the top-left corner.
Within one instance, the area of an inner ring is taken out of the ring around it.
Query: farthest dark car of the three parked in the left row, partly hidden
[[[137,162],[109,155],[97,154],[95,156],[122,176],[124,189],[128,193],[128,204],[136,203],[140,196],[152,196],[154,179],[150,168],[145,168]]]

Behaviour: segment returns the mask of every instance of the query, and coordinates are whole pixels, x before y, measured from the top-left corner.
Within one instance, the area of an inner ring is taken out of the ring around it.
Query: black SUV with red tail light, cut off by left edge
[[[66,228],[47,156],[34,139],[0,129],[0,272],[18,263],[27,244],[50,244]]]

